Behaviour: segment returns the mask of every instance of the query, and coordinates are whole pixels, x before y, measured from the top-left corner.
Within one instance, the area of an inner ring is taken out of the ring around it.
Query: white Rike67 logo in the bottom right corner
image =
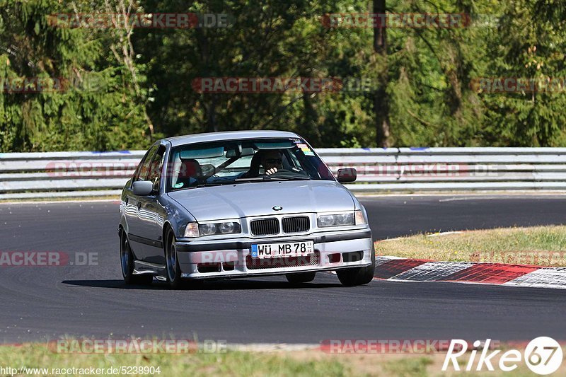
[[[560,344],[553,340],[551,337],[537,337],[529,344],[527,344],[524,354],[517,349],[509,349],[508,351],[499,355],[499,363],[495,363],[495,356],[501,352],[500,349],[492,350],[490,352],[490,339],[485,340],[485,344],[481,349],[479,358],[476,361],[478,348],[482,342],[476,340],[473,343],[474,349],[470,353],[468,362],[462,364],[466,365],[465,371],[495,371],[494,365],[499,367],[501,371],[514,371],[519,363],[524,362],[526,366],[533,371],[533,373],[540,375],[547,375],[554,373],[560,368],[562,364],[562,347]],[[468,342],[464,340],[452,340],[448,348],[448,353],[442,365],[442,371],[447,371],[449,365],[455,371],[460,371],[461,367],[458,364],[458,357],[463,356],[468,351]],[[465,361],[460,359],[460,361]],[[475,367],[475,369],[474,369]]]

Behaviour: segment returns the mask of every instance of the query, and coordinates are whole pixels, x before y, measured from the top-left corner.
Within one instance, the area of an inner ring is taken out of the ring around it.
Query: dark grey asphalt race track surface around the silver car
[[[566,223],[566,197],[364,197],[374,238]],[[232,343],[331,339],[566,340],[566,292],[374,281],[345,288],[319,273],[210,282],[171,291],[125,286],[116,203],[0,204],[0,251],[98,253],[98,265],[0,267],[0,342],[175,337]]]

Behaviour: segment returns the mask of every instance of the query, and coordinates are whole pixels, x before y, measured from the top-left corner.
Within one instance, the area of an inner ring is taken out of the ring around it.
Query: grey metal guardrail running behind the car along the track
[[[317,149],[354,192],[566,190],[566,148]],[[144,151],[0,153],[0,199],[119,195]]]

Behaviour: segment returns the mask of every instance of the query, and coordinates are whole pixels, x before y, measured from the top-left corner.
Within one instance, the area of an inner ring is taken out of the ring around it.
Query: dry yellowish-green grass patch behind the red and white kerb
[[[376,242],[377,255],[566,267],[566,226],[497,228]]]

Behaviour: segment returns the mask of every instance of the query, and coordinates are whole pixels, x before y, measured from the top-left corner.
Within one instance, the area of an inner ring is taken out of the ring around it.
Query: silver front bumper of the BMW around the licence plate
[[[313,241],[315,252],[307,257],[277,257],[257,260],[251,257],[254,243]],[[308,236],[273,238],[232,238],[175,243],[181,277],[191,279],[236,278],[289,274],[294,272],[332,271],[371,264],[374,252],[369,229],[311,233]]]

